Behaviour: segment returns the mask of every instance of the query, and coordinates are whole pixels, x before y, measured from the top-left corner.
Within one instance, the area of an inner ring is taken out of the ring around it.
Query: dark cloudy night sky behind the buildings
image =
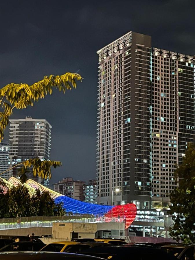
[[[62,167],[52,171],[51,184],[95,178],[96,51],[135,31],[151,35],[153,47],[195,55],[194,10],[194,0],[1,1],[2,87],[66,72],[84,77],[76,90],[56,90],[12,116],[47,119],[53,126],[50,159]]]

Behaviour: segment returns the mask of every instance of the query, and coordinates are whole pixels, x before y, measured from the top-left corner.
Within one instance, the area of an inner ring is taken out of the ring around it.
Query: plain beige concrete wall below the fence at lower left
[[[27,236],[34,233],[35,236],[41,235],[51,235],[52,227],[32,227],[32,228],[23,228],[23,229],[5,229],[0,230],[0,236]]]

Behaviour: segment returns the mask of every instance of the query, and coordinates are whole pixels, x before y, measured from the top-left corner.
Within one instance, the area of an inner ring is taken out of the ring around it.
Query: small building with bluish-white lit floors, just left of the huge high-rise
[[[89,180],[84,185],[84,201],[91,204],[97,204],[97,180]]]

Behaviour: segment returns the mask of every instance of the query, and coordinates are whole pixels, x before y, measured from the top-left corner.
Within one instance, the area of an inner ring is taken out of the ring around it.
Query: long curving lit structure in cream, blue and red
[[[11,177],[8,181],[0,178],[0,187],[5,193],[8,189],[11,189],[17,185],[24,185],[27,187],[31,196],[35,194],[36,190],[39,190],[40,192],[49,192],[50,196],[54,199],[56,204],[62,203],[66,212],[72,212],[74,214],[92,214],[99,217],[105,216],[105,218],[124,218],[126,228],[130,226],[136,217],[137,208],[133,203],[116,206],[90,204],[55,192],[32,179],[29,179],[26,181],[26,183],[22,184],[19,179],[14,177]]]

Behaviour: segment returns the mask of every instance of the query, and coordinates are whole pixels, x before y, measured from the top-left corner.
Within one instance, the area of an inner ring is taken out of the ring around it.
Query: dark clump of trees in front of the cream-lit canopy
[[[27,188],[18,185],[3,194],[0,190],[0,218],[19,218],[31,216],[64,216],[62,204],[55,204],[48,192],[30,196]]]

